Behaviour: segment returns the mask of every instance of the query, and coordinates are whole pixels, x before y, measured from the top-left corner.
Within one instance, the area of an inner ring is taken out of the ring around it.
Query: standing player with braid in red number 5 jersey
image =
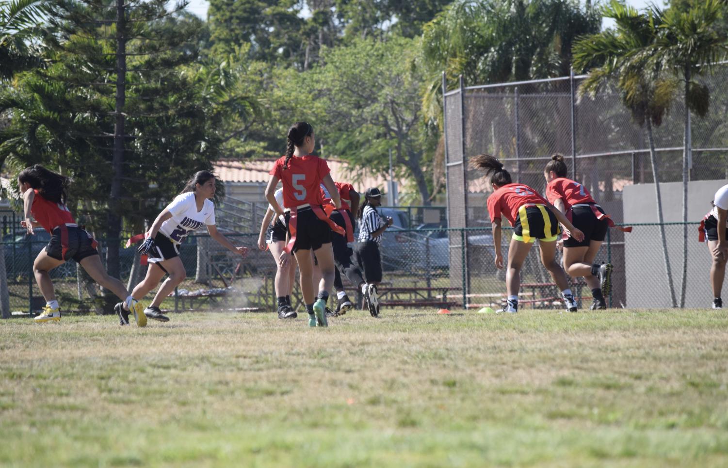
[[[288,255],[293,252],[298,261],[301,275],[301,292],[309,313],[309,326],[327,327],[326,301],[334,277],[333,249],[331,248],[331,231],[344,233],[326,215],[321,206],[319,186],[324,184],[331,194],[334,207],[341,208],[339,191],[331,179],[331,172],[324,159],[314,156],[316,140],[313,127],[307,122],[296,122],[288,129],[288,147],[285,156],[278,159],[273,169],[266,199],[276,210],[276,215],[286,215],[286,225],[290,240],[281,253],[280,261],[287,262]],[[278,181],[283,183],[283,208],[275,201],[275,188]],[[318,296],[312,278],[314,251],[323,278],[318,285]]]

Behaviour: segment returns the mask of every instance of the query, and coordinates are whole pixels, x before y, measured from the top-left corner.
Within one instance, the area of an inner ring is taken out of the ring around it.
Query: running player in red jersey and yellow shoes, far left
[[[51,234],[50,242],[33,262],[33,274],[46,300],[43,312],[35,318],[35,321],[60,320],[60,306],[55,298],[53,282],[48,272],[74,259],[95,282],[122,299],[122,303],[116,304],[116,313],[120,314],[120,317],[125,315],[128,319],[129,312],[132,312],[137,325],[143,327],[146,325],[146,316],[141,306],[130,296],[119,279],[108,276],[98,258],[96,241],[87,231],[79,228],[71,211],[66,207],[66,189],[70,183],[71,179],[47,170],[40,164],[26,167],[17,176],[17,186],[23,195],[25,208],[25,219],[20,223],[21,226],[31,235],[33,228],[36,227],[42,227]],[[121,312],[119,308],[122,309]],[[122,325],[128,323],[128,320],[126,323],[122,321]]]

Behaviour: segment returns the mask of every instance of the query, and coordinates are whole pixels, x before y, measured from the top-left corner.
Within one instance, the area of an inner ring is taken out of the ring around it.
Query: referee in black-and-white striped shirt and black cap
[[[366,189],[364,202],[357,213],[359,218],[359,239],[354,251],[364,277],[369,284],[381,282],[381,256],[379,245],[381,234],[392,226],[392,218],[382,218],[376,211],[381,205],[382,193],[376,187]]]

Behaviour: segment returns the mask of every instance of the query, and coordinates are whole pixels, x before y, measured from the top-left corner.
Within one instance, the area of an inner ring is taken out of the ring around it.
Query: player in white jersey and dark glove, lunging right
[[[181,194],[159,213],[146,232],[146,239],[139,246],[139,252],[148,255],[149,268],[146,277],[132,291],[132,297],[136,300],[143,298],[159,284],[165,274],[169,275],[157,290],[154,301],[145,309],[147,317],[160,322],[169,320],[162,315],[159,306],[186,277],[178,246],[188,234],[207,226],[210,237],[223,247],[242,256],[248,253],[248,247],[235,247],[215,227],[215,205],[211,200],[214,196],[215,175],[206,170],[197,172]]]

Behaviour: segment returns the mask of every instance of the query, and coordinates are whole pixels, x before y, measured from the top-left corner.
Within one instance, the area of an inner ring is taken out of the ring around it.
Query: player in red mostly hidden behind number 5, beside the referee
[[[352,309],[354,304],[347,296],[344,290],[344,283],[341,282],[341,274],[344,274],[349,279],[352,285],[355,285],[358,290],[361,291],[362,296],[365,298],[365,304],[370,309],[372,304],[372,295],[376,294],[376,287],[368,285],[364,281],[364,275],[361,269],[355,263],[352,263],[352,255],[354,250],[349,247],[349,242],[354,242],[354,227],[355,219],[352,213],[356,213],[359,209],[359,194],[355,191],[354,186],[350,183],[334,182],[336,189],[339,190],[339,197],[341,197],[341,208],[339,210],[333,209],[331,202],[331,195],[325,186],[321,186],[321,197],[323,197],[324,210],[330,213],[331,220],[344,228],[346,234],[331,234],[331,246],[333,247],[333,260],[336,264],[335,276],[333,279],[333,287],[336,289],[336,314],[346,314],[349,309]]]

